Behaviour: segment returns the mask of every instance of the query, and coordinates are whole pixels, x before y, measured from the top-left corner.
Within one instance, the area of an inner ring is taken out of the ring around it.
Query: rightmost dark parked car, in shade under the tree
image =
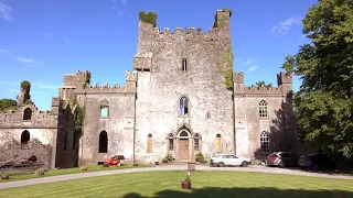
[[[322,153],[307,154],[300,156],[298,165],[301,168],[313,168],[313,169],[336,169],[335,161]]]

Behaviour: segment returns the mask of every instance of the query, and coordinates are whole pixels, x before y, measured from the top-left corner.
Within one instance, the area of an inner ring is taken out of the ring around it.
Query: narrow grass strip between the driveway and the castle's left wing
[[[103,167],[101,165],[96,166],[87,166],[87,170],[81,170],[79,167],[74,168],[64,168],[64,169],[50,169],[45,172],[43,176],[38,176],[34,173],[25,173],[25,174],[12,174],[10,175],[10,179],[0,179],[0,183],[11,182],[11,180],[23,180],[30,178],[39,178],[39,177],[49,177],[55,175],[66,175],[66,174],[76,174],[76,173],[85,173],[85,172],[103,172],[103,170],[111,170],[111,169],[126,169],[126,168],[138,168],[138,167],[151,167],[151,165],[124,165],[119,167]]]

